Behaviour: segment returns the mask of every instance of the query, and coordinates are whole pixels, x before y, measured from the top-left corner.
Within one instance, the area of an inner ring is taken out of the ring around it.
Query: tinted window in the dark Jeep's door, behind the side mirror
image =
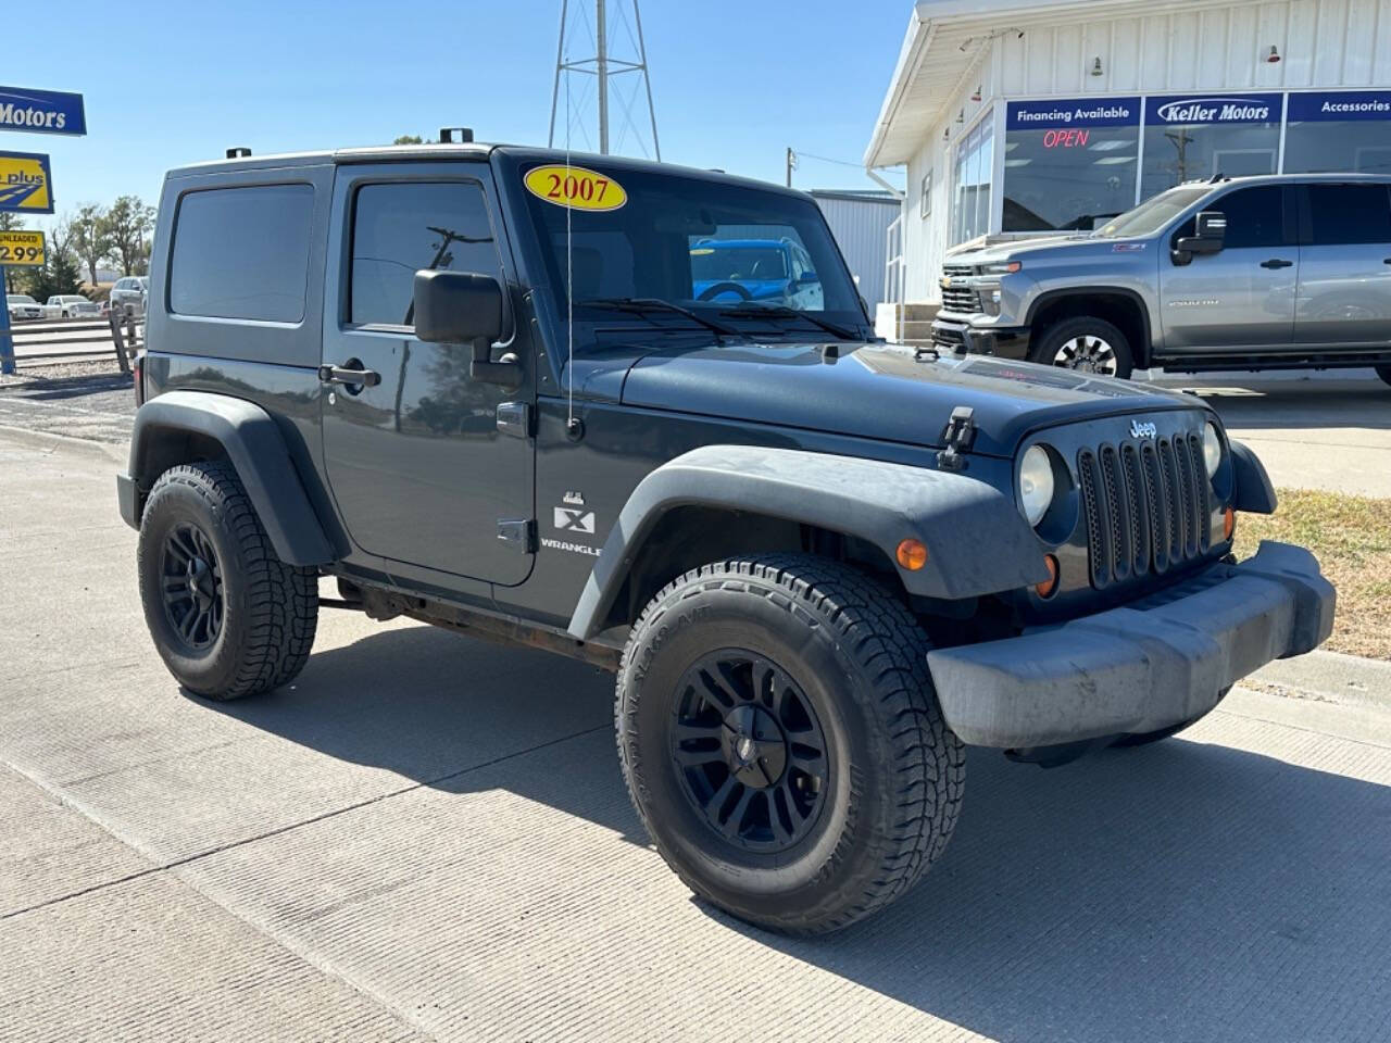
[[[348,321],[409,325],[416,273],[474,271],[502,281],[483,189],[469,181],[357,189]]]

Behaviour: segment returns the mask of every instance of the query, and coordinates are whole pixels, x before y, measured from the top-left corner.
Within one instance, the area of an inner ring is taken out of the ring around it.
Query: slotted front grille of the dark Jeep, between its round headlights
[[[1129,439],[1077,456],[1092,585],[1161,576],[1212,547],[1202,437]]]

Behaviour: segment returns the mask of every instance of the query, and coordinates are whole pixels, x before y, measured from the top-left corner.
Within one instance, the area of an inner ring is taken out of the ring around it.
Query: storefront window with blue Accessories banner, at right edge
[[[1391,174],[1391,92],[1289,95],[1287,174]]]

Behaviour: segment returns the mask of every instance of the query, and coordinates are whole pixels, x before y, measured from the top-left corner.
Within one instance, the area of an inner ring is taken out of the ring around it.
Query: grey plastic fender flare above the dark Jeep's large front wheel
[[[569,633],[602,627],[657,523],[682,506],[714,506],[860,537],[897,562],[921,540],[928,563],[897,566],[911,594],[957,601],[1047,579],[1038,537],[1014,501],[965,474],[854,456],[747,445],[707,445],[654,470],[633,491],[604,542]]]

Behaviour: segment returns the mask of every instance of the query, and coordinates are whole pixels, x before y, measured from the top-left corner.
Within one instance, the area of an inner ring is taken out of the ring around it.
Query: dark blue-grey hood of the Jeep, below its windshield
[[[986,356],[918,362],[911,349],[882,343],[837,348],[823,353],[821,345],[759,343],[652,352],[627,367],[620,401],[929,446],[942,445],[951,410],[970,406],[975,452],[992,456],[1011,456],[1020,439],[1040,427],[1205,409],[1180,392],[1049,366]],[[616,375],[613,369],[608,375]]]

